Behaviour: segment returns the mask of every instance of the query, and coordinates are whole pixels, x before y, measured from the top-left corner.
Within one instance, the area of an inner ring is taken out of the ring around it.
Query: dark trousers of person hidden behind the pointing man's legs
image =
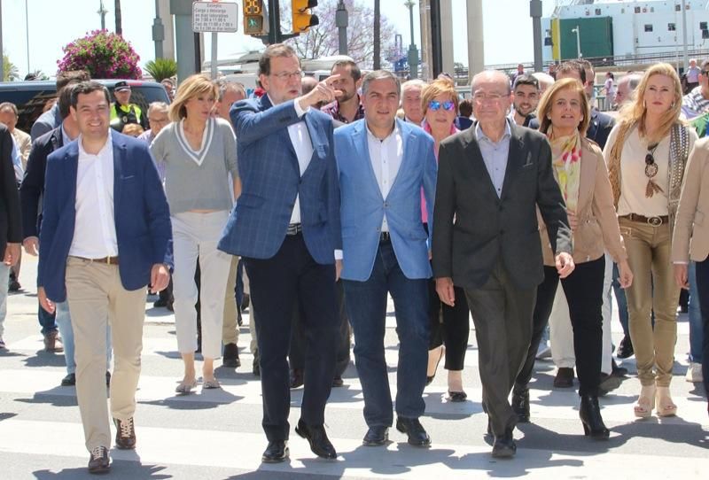
[[[338,348],[336,353],[336,363],[335,363],[335,376],[342,377],[347,370],[350,360],[350,338],[352,337],[352,329],[349,325],[349,318],[347,317],[347,306],[345,305],[345,289],[342,287],[342,282],[337,283],[337,296],[338,296],[338,319],[339,319],[339,336],[338,336]],[[291,351],[288,354],[288,360],[291,365],[291,369],[302,370],[305,365],[305,328],[303,327],[303,322],[300,321],[300,317],[303,312],[300,307],[293,308],[293,326],[291,330]]]

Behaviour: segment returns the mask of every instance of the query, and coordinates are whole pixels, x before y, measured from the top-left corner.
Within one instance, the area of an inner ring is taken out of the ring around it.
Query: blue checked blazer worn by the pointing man
[[[308,252],[319,264],[333,263],[342,236],[331,117],[310,109],[299,118],[293,101],[273,106],[267,96],[238,102],[230,116],[237,135],[242,190],[219,249],[253,259],[273,257],[284,242],[295,197],[300,196],[300,223]],[[288,126],[302,120],[313,157],[300,175]]]

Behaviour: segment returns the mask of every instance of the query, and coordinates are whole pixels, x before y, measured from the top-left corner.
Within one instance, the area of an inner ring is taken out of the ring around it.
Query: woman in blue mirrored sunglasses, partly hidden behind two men
[[[426,85],[421,93],[421,106],[424,111],[421,127],[432,135],[435,141],[433,148],[438,159],[440,142],[458,132],[453,124],[458,112],[458,95],[453,83],[447,78],[442,78]],[[421,198],[422,219],[426,228],[429,228],[423,193]],[[470,323],[465,293],[463,289],[458,287],[455,289],[456,306],[447,306],[440,302],[436,293],[435,280],[431,279],[429,282],[431,340],[426,384],[433,381],[440,360],[445,356],[444,367],[448,370],[448,399],[452,402],[463,402],[467,399],[463,390],[463,364],[465,350],[468,348]]]

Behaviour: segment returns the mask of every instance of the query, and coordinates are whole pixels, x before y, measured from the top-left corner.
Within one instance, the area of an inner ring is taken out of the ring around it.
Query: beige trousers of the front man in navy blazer
[[[110,324],[113,342],[111,416],[128,420],[136,412],[145,319],[145,286],[125,290],[118,266],[69,257],[66,297],[72,313],[76,397],[86,447],[111,446],[105,389],[105,337]]]

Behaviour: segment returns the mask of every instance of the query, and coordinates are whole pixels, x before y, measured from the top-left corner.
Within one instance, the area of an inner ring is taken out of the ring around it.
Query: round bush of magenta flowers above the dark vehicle
[[[107,30],[94,30],[64,47],[64,58],[57,62],[58,71],[86,70],[91,78],[143,77],[138,66],[140,57],[130,43]]]

